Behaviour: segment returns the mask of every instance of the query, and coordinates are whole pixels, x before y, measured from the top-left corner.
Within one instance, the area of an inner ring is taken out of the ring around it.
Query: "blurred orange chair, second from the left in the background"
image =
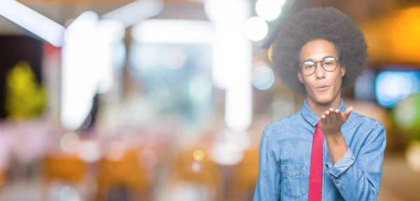
[[[147,172],[140,165],[143,162],[137,149],[126,149],[118,160],[102,158],[98,164],[97,200],[111,199],[107,194],[114,188],[127,189],[130,200],[148,200]]]

